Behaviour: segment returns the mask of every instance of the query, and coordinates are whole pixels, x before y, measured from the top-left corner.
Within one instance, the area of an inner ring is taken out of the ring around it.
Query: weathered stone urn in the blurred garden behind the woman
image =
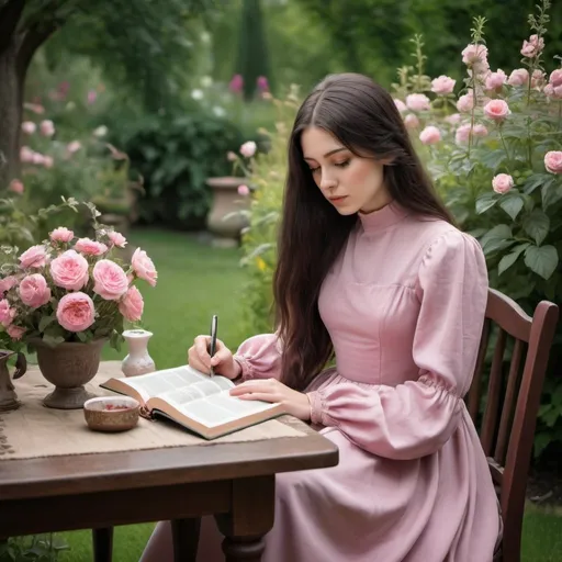
[[[213,235],[214,246],[237,246],[243,228],[249,224],[244,214],[237,213],[248,210],[250,205],[248,196],[238,194],[238,187],[245,183],[245,178],[236,177],[209,178],[206,180],[206,184],[213,191],[206,226]]]

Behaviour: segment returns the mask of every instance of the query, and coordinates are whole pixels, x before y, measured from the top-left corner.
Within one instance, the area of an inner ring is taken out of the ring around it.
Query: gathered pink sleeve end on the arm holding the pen
[[[234,359],[241,367],[239,381],[248,379],[279,379],[281,347],[277,334],[260,334],[243,341]]]

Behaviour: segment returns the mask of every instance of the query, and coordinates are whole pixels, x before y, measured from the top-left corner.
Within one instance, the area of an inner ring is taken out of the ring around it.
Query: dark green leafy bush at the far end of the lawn
[[[120,127],[119,144],[144,178],[140,217],[201,228],[211,198],[205,180],[228,172],[226,153],[241,143],[237,128],[205,113],[146,115]]]

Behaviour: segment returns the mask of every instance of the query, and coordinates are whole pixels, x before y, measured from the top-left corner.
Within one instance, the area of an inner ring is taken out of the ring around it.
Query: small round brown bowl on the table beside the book
[[[130,396],[101,396],[83,404],[83,417],[94,431],[126,431],[138,423],[140,404]]]

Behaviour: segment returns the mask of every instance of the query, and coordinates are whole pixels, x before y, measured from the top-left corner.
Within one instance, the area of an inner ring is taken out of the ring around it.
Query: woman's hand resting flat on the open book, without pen
[[[288,414],[299,419],[311,419],[311,403],[306,394],[293,391],[277,379],[252,379],[231,389],[231,396],[241,400],[261,400],[283,404]]]

